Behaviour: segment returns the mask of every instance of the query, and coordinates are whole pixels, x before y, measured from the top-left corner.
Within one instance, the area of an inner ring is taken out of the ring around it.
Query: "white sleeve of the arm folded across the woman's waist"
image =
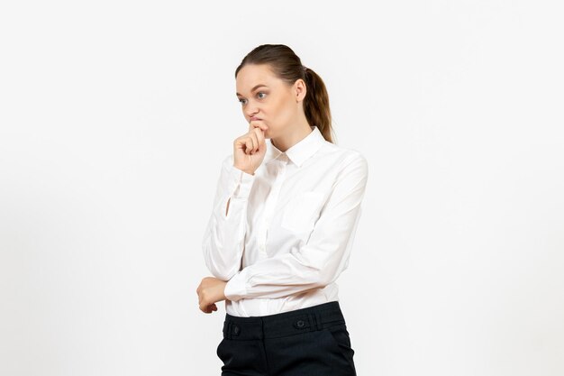
[[[367,180],[367,160],[355,153],[334,182],[309,241],[237,272],[225,286],[225,297],[282,298],[336,280],[349,264]]]

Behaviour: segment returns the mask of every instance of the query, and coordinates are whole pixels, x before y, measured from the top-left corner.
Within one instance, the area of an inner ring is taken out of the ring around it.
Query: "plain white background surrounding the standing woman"
[[[220,374],[201,241],[262,43],[368,159],[339,280],[359,376],[564,374],[557,4],[3,2],[0,374]]]

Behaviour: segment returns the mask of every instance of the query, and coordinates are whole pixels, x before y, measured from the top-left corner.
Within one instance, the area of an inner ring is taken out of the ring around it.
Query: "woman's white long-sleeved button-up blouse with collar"
[[[202,248],[209,271],[228,281],[232,316],[339,300],[335,280],[349,264],[368,163],[311,128],[286,152],[267,139],[254,175],[235,168],[232,154],[223,160]]]

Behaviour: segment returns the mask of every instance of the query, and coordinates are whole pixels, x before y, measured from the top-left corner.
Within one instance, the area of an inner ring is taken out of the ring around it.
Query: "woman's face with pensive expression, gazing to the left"
[[[277,138],[296,124],[300,102],[305,97],[305,82],[293,86],[274,76],[268,64],[247,64],[237,74],[237,97],[250,125],[265,124],[266,138]],[[256,119],[255,119],[256,118]]]

